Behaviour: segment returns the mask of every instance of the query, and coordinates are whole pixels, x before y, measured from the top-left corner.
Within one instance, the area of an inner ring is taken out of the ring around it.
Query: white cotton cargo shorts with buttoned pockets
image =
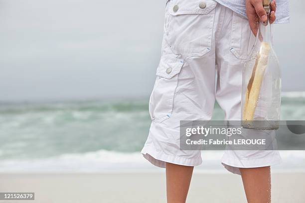
[[[142,154],[158,167],[197,166],[200,150],[180,150],[180,120],[210,120],[215,99],[225,120],[241,119],[242,69],[255,36],[247,19],[213,0],[168,0],[165,10],[149,103],[152,124]],[[226,150],[222,158],[236,174],[280,162],[278,151]]]

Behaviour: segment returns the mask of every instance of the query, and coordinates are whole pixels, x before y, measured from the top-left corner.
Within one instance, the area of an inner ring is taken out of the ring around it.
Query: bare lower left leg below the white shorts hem
[[[185,203],[194,167],[166,163],[167,203]]]

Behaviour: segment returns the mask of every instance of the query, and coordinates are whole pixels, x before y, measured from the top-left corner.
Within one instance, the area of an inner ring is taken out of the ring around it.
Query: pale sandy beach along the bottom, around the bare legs
[[[273,174],[273,203],[305,203],[305,173]],[[165,203],[162,173],[0,174],[0,192],[34,192],[34,201],[0,203]],[[245,203],[238,175],[195,173],[187,203]]]

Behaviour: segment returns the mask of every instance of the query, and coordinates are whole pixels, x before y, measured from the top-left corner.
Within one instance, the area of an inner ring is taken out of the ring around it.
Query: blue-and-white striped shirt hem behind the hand
[[[241,16],[247,18],[246,14],[246,0],[215,0],[233,10],[234,12],[240,14]],[[276,10],[276,21],[275,23],[289,23],[289,7],[288,0],[276,0],[277,10]]]

